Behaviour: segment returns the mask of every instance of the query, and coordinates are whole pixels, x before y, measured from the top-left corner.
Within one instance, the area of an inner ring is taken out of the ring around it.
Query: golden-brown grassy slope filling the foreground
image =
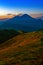
[[[43,30],[22,33],[1,44],[0,65],[43,65]]]

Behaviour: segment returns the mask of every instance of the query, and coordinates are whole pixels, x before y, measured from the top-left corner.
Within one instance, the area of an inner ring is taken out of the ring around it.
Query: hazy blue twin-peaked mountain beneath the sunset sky
[[[14,29],[25,32],[36,31],[43,29],[43,20],[37,20],[27,14],[17,15],[11,19],[0,21],[0,29]]]

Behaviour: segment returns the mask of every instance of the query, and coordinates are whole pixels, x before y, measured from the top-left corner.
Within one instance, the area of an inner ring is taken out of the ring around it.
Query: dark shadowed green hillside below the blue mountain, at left
[[[7,41],[8,39],[18,35],[19,32],[15,30],[0,30],[0,43]]]

